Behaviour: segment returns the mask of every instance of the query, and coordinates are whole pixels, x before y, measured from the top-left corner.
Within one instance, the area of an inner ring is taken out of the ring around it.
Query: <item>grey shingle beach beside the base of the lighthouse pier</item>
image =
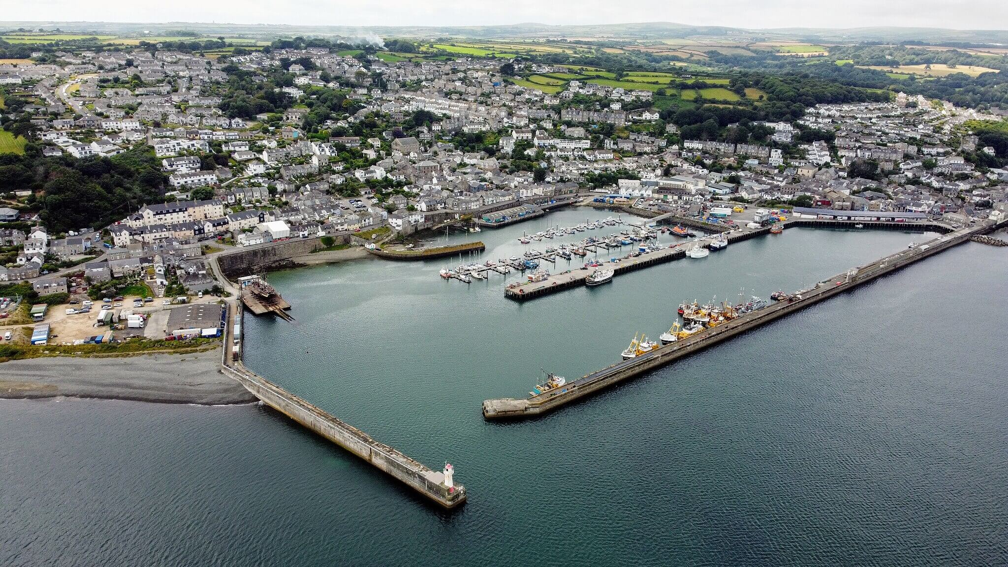
[[[101,398],[163,404],[250,404],[258,399],[220,371],[221,352],[69,356],[0,364],[0,398]]]

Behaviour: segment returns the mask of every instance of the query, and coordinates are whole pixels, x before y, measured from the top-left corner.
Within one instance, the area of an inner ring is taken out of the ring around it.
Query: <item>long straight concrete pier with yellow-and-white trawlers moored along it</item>
[[[973,228],[961,229],[934,238],[914,248],[890,254],[867,265],[859,266],[834,277],[824,279],[811,290],[802,290],[797,293],[799,299],[779,302],[715,328],[707,329],[691,337],[662,346],[644,355],[619,362],[568,382],[561,388],[547,390],[543,393],[529,395],[524,399],[506,398],[487,400],[483,403],[483,416],[488,420],[496,420],[531,418],[545,414],[600,389],[657,368],[658,366],[663,366],[678,358],[694,354],[780,317],[812,306],[837,294],[852,290],[857,286],[900,269],[952,246],[962,244],[971,237],[983,234],[994,228],[994,225],[985,224]],[[740,236],[749,238],[753,235]]]

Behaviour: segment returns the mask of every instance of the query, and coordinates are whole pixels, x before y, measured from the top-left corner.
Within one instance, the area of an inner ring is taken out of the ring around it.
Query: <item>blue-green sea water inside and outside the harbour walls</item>
[[[600,215],[450,240],[520,256],[523,231]],[[246,318],[247,364],[451,461],[469,503],[435,509],[257,406],[0,401],[0,564],[1005,564],[1004,249],[966,244],[543,419],[480,415],[540,369],[617,361],[682,300],[766,298],[928,237],[787,229],[523,304],[500,275],[437,277],[461,260],[273,273],[296,322]]]

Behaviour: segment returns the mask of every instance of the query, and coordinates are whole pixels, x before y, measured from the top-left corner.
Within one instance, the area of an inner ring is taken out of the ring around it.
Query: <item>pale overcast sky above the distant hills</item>
[[[1008,0],[2,0],[0,20],[1008,28]]]

